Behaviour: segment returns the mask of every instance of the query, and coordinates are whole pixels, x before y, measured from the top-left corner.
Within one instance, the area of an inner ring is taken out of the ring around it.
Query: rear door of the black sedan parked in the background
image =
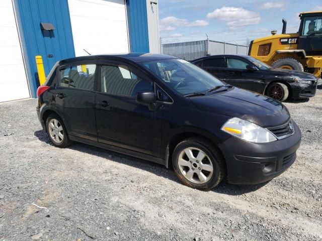
[[[229,75],[231,74],[229,71],[226,71],[227,62],[223,56],[204,59],[202,68],[223,81],[226,78],[229,79]]]

